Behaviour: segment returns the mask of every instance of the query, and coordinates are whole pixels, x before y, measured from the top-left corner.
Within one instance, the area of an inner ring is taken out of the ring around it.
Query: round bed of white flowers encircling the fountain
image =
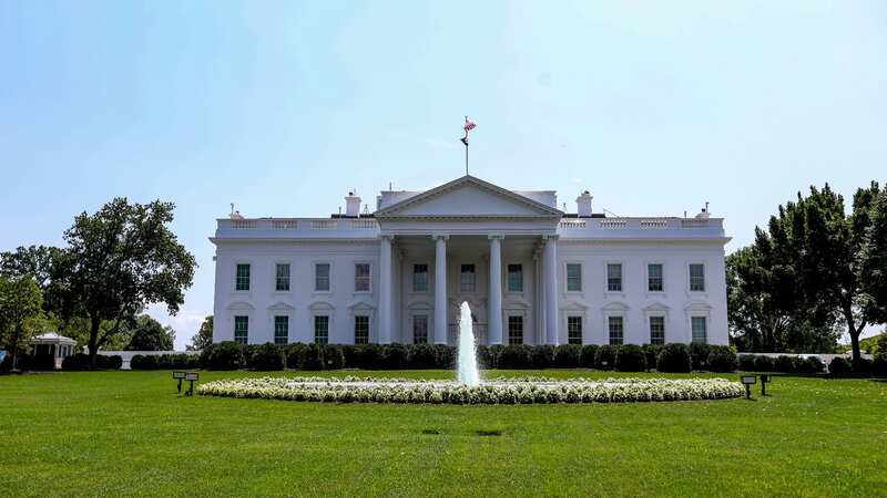
[[[476,387],[452,381],[373,377],[261,377],[207,382],[197,394],[330,403],[547,404],[632,403],[741,397],[726,378],[493,378]]]

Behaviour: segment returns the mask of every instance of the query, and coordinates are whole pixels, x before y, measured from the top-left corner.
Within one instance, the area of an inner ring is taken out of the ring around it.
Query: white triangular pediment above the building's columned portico
[[[376,212],[376,218],[560,218],[550,206],[472,176],[426,190]]]

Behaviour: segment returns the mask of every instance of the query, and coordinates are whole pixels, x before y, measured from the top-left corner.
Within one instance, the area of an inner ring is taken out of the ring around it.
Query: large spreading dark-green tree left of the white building
[[[69,243],[54,278],[62,289],[65,317],[89,319],[90,361],[99,347],[134,320],[149,303],[163,302],[179,312],[191,287],[196,262],[167,225],[174,205],[147,205],[115,198],[94,215],[82,212],[65,230]],[[110,329],[103,330],[102,322]]]

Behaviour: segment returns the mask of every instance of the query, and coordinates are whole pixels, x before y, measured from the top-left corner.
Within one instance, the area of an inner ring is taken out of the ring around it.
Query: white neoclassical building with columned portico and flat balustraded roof
[[[463,176],[376,210],[217,220],[215,341],[727,343],[723,219],[558,209],[552,190]]]

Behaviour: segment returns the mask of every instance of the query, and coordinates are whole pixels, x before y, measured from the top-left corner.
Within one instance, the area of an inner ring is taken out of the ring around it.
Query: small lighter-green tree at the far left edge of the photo
[[[40,330],[43,294],[30,276],[0,277],[0,342],[12,351],[12,365],[19,350]]]

